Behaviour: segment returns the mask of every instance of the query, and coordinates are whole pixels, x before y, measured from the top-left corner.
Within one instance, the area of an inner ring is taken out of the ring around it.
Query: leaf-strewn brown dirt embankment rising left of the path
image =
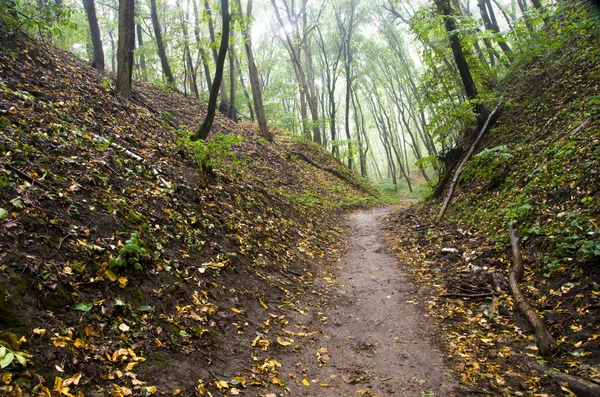
[[[126,103],[69,54],[2,37],[2,393],[285,385],[271,352],[313,332],[286,313],[314,309],[333,217],[373,192],[281,131],[217,117],[213,136],[243,139],[182,144],[204,110],[149,85]]]

